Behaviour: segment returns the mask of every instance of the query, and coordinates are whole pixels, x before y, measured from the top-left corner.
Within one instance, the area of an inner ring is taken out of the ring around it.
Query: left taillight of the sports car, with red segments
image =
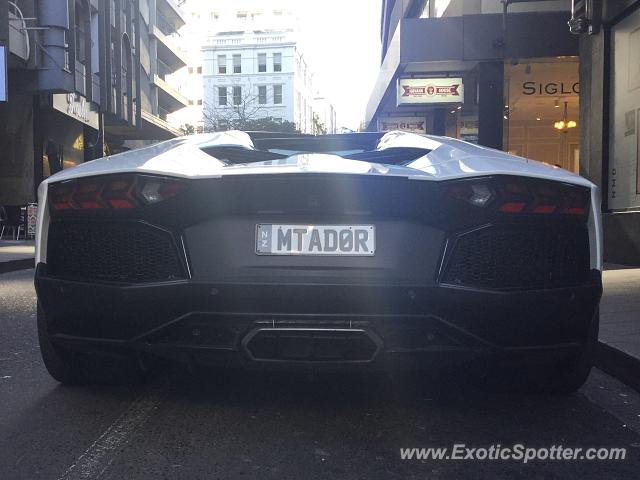
[[[54,211],[127,210],[168,200],[186,188],[178,179],[108,175],[52,184],[49,198]]]

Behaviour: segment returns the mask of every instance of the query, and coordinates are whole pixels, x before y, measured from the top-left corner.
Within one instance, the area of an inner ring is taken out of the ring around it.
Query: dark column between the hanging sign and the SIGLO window
[[[502,150],[504,64],[478,66],[478,144]]]

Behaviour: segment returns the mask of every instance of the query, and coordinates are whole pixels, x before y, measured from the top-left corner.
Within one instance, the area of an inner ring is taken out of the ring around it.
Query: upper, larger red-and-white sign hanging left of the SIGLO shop
[[[462,103],[462,78],[399,78],[398,105]]]

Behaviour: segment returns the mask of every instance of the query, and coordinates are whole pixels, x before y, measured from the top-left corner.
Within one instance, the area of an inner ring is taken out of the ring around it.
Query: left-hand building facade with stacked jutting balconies
[[[0,3],[8,47],[0,101],[0,204],[35,200],[47,176],[179,132],[186,105],[165,76],[185,65],[168,39],[184,24],[173,0]]]

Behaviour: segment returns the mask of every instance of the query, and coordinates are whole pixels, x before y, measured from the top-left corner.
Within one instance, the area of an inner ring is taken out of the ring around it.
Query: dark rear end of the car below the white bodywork
[[[584,184],[247,171],[46,188],[36,287],[60,348],[397,370],[561,362],[593,340],[598,199]],[[296,228],[307,251],[287,242]],[[327,252],[309,249],[314,228],[369,233]]]

